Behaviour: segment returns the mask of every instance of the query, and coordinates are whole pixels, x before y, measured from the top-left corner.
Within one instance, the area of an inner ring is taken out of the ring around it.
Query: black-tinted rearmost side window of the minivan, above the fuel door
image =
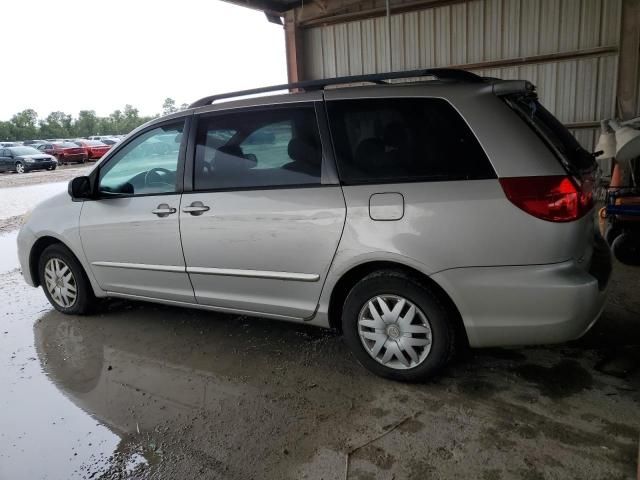
[[[439,98],[327,102],[345,184],[495,178],[460,114]]]

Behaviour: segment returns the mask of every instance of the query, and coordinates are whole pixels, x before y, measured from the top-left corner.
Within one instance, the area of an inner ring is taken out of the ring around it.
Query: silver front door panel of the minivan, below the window
[[[180,248],[179,194],[85,202],[80,234],[103,290],[194,302]],[[176,213],[152,213],[160,205]]]

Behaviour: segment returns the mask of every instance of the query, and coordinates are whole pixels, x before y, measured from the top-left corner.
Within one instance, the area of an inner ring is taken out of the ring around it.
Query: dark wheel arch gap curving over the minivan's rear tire
[[[408,265],[394,261],[385,260],[361,263],[352,267],[340,277],[340,279],[333,286],[331,296],[329,297],[328,316],[329,326],[331,328],[338,331],[342,330],[342,307],[344,305],[344,301],[347,298],[347,295],[355,286],[355,284],[370,273],[380,270],[393,270],[402,272],[405,275],[408,275],[425,284],[432,291],[432,293],[438,297],[438,300],[440,300],[452,313],[452,318],[454,319],[454,327],[456,329],[456,333],[458,334],[458,342],[461,344],[461,346],[468,346],[469,341],[467,339],[467,332],[462,321],[462,316],[460,315],[458,307],[453,302],[451,297],[447,294],[447,292],[436,281],[434,281],[431,277],[424,274],[423,272],[415,269],[414,267],[410,267]]]

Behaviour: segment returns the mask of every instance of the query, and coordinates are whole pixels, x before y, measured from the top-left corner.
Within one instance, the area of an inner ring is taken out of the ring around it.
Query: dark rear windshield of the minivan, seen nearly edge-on
[[[582,147],[560,121],[537,98],[505,97],[507,104],[550,146],[569,173],[581,174],[596,168],[595,157]]]

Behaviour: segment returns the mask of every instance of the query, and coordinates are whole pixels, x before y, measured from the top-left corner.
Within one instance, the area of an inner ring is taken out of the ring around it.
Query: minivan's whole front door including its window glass
[[[86,201],[80,235],[102,289],[194,302],[180,244],[184,121],[143,130],[98,171],[101,200]]]

